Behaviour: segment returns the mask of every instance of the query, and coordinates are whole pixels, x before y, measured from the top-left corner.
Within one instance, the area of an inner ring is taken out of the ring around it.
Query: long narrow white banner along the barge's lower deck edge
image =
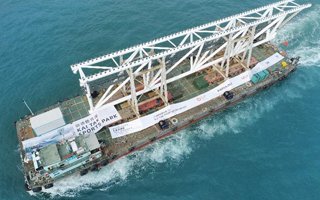
[[[201,95],[180,103],[171,104],[161,110],[158,110],[157,112],[135,119],[133,121],[109,127],[111,136],[112,138],[118,138],[138,131],[142,131],[158,123],[160,120],[168,119],[187,110],[195,108],[201,104],[204,104],[216,97],[219,97],[226,91],[232,90],[240,85],[249,82],[254,74],[259,73],[267,69],[268,67],[278,63],[283,58],[284,57],[279,53],[275,53],[269,58],[259,62],[251,70],[247,70],[239,74],[238,76],[226,80],[225,82],[213,88],[212,90],[209,90],[208,92],[205,92]]]

